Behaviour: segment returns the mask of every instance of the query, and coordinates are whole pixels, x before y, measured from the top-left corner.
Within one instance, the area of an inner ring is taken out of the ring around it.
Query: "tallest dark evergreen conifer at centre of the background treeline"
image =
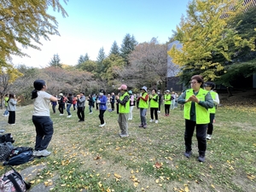
[[[128,64],[128,55],[131,53],[132,50],[135,49],[137,45],[137,41],[134,38],[134,36],[130,35],[127,33],[125,35],[125,38],[123,39],[123,43],[121,44],[121,49],[120,49],[120,55],[125,59],[125,62]]]

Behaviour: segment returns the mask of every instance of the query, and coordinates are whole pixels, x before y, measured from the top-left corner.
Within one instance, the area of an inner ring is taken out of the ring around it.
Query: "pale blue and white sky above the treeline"
[[[40,49],[22,49],[31,57],[13,56],[13,64],[27,67],[47,67],[53,55],[58,54],[61,63],[74,66],[79,56],[89,55],[96,61],[99,50],[105,54],[114,41],[122,44],[127,33],[138,43],[157,38],[165,44],[172,37],[182,15],[186,15],[189,0],[69,0],[62,3],[68,16],[49,10],[58,21],[61,36],[41,40]]]

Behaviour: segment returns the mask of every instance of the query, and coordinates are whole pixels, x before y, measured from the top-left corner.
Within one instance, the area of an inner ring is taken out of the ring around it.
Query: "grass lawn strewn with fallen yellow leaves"
[[[51,113],[55,133],[48,149],[52,154],[16,169],[44,163],[31,182],[50,185],[50,191],[256,191],[255,107],[218,108],[205,163],[197,161],[195,136],[192,157],[183,156],[183,112],[176,108],[169,117],[163,112],[159,124],[149,123],[148,112],[148,128],[141,129],[139,110],[134,108],[130,137],[124,138],[119,137],[116,112],[106,111],[103,128],[98,126],[98,112],[89,114],[88,106],[83,123],[73,110],[70,119],[67,113]],[[15,146],[33,148],[32,105],[18,108],[16,125],[2,128],[13,134]]]

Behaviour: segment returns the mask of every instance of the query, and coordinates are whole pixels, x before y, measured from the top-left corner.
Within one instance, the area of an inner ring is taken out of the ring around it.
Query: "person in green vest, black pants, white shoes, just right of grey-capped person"
[[[151,90],[151,95],[149,96],[149,103],[150,103],[150,116],[151,116],[151,119],[149,120],[149,122],[154,122],[158,124],[159,96],[157,95],[155,89]]]

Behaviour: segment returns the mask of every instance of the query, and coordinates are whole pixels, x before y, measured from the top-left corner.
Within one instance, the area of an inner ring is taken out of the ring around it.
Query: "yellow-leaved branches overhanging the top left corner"
[[[59,35],[55,17],[47,13],[50,7],[67,16],[59,0],[1,1],[0,66],[9,61],[11,55],[26,56],[17,43],[25,48],[40,49],[37,45],[41,44],[40,38],[49,40],[49,35]]]

